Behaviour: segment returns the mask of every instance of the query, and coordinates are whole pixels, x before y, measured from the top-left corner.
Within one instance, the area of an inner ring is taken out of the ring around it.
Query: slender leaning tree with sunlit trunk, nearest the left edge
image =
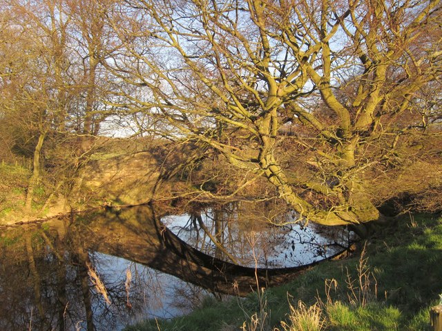
[[[26,145],[32,146],[28,155],[33,163],[26,197],[28,212],[40,179],[44,141],[54,123],[59,122],[66,100],[64,81],[61,83],[66,67],[66,25],[64,21],[57,24],[55,6],[48,6],[48,19],[47,12],[42,12],[41,7],[28,11],[19,3],[14,3],[8,8],[11,17],[9,37],[16,37],[16,51],[10,54],[6,50],[8,61],[2,68],[5,83],[2,91],[3,110],[15,121],[12,128],[21,127],[20,138],[28,139],[31,143]],[[5,37],[3,40],[7,45],[11,40]]]

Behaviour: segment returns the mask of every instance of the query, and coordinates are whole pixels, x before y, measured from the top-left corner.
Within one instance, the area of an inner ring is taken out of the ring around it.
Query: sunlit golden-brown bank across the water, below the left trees
[[[143,145],[104,141],[87,161],[42,172],[26,207],[32,171],[23,162],[0,163],[0,225],[20,225],[95,208],[148,203],[160,186],[157,160]]]

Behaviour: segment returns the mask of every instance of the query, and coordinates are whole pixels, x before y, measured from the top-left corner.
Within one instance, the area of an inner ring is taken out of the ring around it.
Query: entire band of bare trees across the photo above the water
[[[1,12],[1,153],[33,160],[27,205],[42,159],[80,166],[88,137],[130,128],[215,154],[244,174],[238,190],[266,179],[307,221],[383,220],[386,201],[440,210],[439,0],[15,0]]]

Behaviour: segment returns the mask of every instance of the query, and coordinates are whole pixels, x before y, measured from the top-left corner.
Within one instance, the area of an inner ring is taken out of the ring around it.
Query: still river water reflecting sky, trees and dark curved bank
[[[254,219],[223,208],[162,217],[179,236],[151,206],[0,229],[0,330],[118,330],[189,312],[208,292],[244,295],[302,272],[295,259],[280,268],[302,250],[302,232],[266,225],[257,208]]]

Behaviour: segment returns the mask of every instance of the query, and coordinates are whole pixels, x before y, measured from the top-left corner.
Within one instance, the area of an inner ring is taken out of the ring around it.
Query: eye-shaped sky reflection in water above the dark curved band
[[[281,205],[235,202],[166,215],[162,222],[198,250],[249,267],[296,267],[347,247],[347,230],[305,226],[296,217]]]

